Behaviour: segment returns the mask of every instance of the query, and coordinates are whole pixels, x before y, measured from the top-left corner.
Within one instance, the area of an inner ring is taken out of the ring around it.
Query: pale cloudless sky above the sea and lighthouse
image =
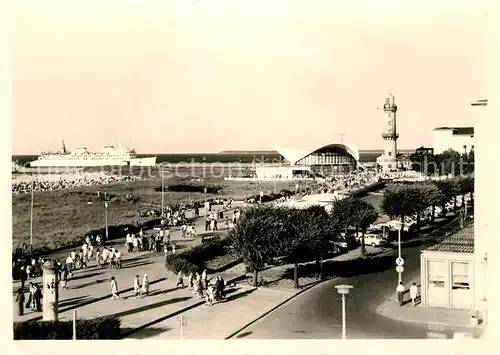
[[[487,97],[475,1],[14,2],[13,154],[382,149],[470,126]]]

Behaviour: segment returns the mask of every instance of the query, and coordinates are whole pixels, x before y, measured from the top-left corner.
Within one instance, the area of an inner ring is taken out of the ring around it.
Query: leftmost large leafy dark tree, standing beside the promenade
[[[254,287],[257,287],[258,272],[276,255],[273,243],[280,230],[276,213],[273,207],[252,207],[242,214],[228,235],[235,254],[253,272]]]

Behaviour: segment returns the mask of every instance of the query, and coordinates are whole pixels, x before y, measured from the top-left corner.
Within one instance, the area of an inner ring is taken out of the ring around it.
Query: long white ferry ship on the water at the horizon
[[[134,149],[105,146],[100,152],[89,152],[87,148],[77,148],[73,152],[62,148],[58,152],[45,151],[37,160],[30,162],[30,167],[94,167],[94,166],[154,166],[156,156],[138,158]]]

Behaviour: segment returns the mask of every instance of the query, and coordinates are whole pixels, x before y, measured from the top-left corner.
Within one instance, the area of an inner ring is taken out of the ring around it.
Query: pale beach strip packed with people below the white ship
[[[78,174],[38,174],[13,175],[12,192],[30,193],[33,191],[51,191],[59,189],[69,189],[82,186],[97,186],[128,181],[143,180],[140,176],[114,175],[104,172],[84,172]]]

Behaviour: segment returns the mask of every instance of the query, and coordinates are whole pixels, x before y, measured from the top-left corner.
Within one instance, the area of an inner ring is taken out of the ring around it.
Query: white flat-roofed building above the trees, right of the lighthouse
[[[433,131],[434,154],[448,149],[468,153],[474,150],[474,127],[438,127]]]

